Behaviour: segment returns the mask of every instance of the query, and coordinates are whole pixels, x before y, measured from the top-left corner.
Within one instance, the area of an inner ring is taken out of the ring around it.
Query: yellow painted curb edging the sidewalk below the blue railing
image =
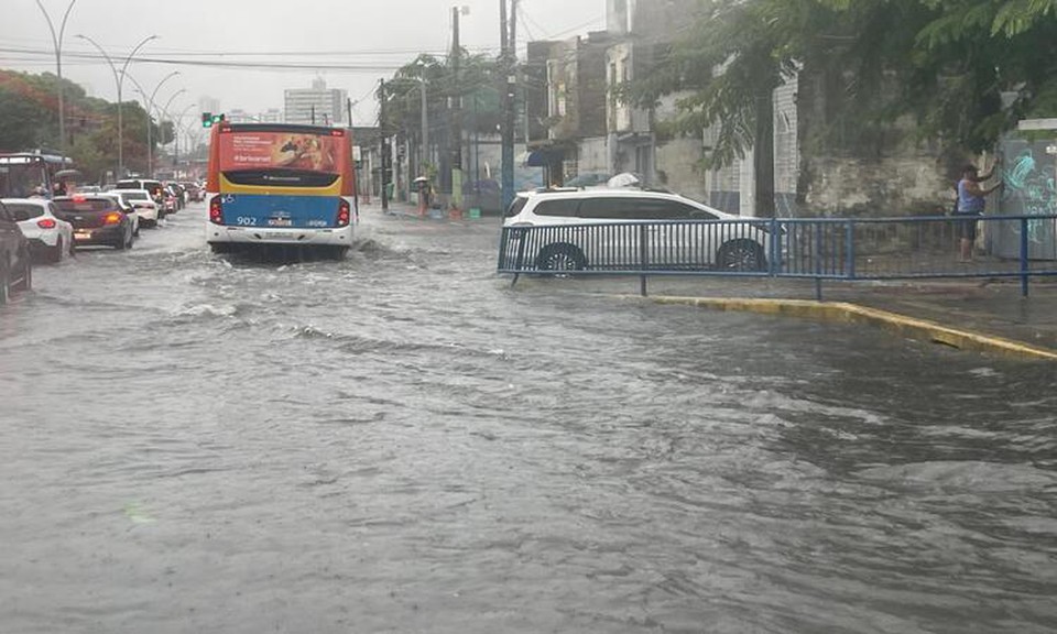
[[[625,296],[641,299],[638,296]],[[820,319],[824,321],[842,321],[848,324],[870,324],[887,330],[894,330],[912,338],[927,339],[936,343],[944,343],[959,350],[971,350],[1016,357],[1021,359],[1045,359],[1057,361],[1057,351],[1047,348],[1037,348],[1020,341],[993,337],[980,332],[957,330],[928,321],[907,317],[887,310],[867,308],[858,304],[846,302],[811,302],[806,299],[745,299],[737,297],[647,297],[655,304],[677,304],[699,306],[713,310],[730,310],[759,313],[763,315],[784,315]]]

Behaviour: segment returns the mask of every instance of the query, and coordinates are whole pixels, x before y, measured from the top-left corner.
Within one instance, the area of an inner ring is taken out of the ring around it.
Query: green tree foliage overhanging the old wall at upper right
[[[1025,116],[1057,113],[1057,0],[701,0],[693,25],[623,98],[679,95],[665,133],[711,128],[706,166],[752,147],[764,96],[799,69],[826,132],[863,151],[917,139],[980,151]]]

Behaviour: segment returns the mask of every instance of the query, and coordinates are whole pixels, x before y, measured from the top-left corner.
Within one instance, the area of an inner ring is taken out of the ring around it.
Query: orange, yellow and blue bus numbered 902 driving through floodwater
[[[344,256],[356,204],[351,133],[222,123],[213,129],[206,200],[214,252],[282,245]]]

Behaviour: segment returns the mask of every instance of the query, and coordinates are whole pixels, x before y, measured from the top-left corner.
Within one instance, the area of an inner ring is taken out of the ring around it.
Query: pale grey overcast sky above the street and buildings
[[[42,0],[56,30],[69,0]],[[606,0],[520,0],[519,40],[569,37],[604,29]],[[73,54],[95,50],[75,37],[96,40],[111,57],[126,57],[149,35],[138,55],[166,61],[196,59],[263,64],[399,66],[418,52],[443,53],[451,42],[451,7],[465,6],[464,46],[499,48],[499,0],[77,0],[66,26],[64,76],[91,95],[116,98],[113,74],[101,61]],[[0,67],[41,73],[55,70],[47,23],[34,0],[0,0]],[[15,52],[30,50],[39,54]],[[302,55],[260,55],[260,53]],[[250,53],[258,55],[235,55]],[[330,53],[341,53],[331,55]],[[68,55],[67,54],[72,54]],[[197,116],[199,98],[220,100],[221,109],[251,113],[283,107],[285,88],[308,87],[316,77],[330,88],[344,88],[356,107],[357,124],[371,124],[373,86],[392,70],[358,69],[221,69],[215,67],[133,62],[130,75],[150,94],[173,70],[181,75],[157,92],[164,105],[179,89],[170,110],[185,110],[185,124]],[[126,84],[126,100],[137,98]]]

